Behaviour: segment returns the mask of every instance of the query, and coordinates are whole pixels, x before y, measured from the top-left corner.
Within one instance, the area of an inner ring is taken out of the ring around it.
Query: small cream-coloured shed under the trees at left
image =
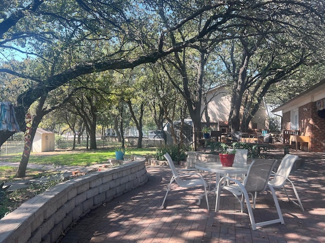
[[[45,131],[41,128],[36,130],[34,141],[32,142],[32,152],[54,151],[54,133]]]

